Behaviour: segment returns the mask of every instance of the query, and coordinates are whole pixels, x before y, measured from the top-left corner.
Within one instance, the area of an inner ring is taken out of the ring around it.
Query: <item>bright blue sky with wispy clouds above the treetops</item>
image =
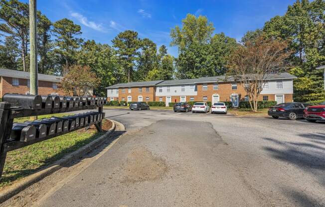
[[[27,1],[27,0],[25,0]],[[37,9],[51,21],[64,17],[82,27],[82,37],[108,43],[121,31],[131,29],[150,38],[168,53],[170,29],[181,25],[187,13],[205,15],[215,33],[240,40],[248,30],[263,27],[275,15],[283,15],[295,0],[38,0]]]

